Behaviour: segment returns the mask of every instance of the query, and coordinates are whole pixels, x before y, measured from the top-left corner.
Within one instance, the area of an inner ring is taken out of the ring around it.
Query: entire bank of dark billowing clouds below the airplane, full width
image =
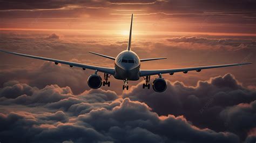
[[[255,91],[231,74],[199,81],[196,87],[168,81],[161,94],[140,85],[121,98],[102,89],[74,95],[70,87],[9,81],[1,88],[0,137],[5,142],[254,140]]]

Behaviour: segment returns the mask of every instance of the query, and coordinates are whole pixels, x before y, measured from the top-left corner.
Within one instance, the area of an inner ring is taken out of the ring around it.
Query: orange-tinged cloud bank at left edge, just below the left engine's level
[[[0,88],[0,102],[3,105],[46,105],[46,107],[49,108],[68,110],[68,108],[74,104],[80,105],[80,103],[85,102],[88,103],[87,105],[89,106],[92,106],[90,105],[92,103],[102,103],[104,106],[104,103],[107,101],[116,100],[118,98],[115,92],[102,89],[85,91],[75,96],[68,86],[59,87],[58,85],[48,85],[42,89],[38,89],[27,84],[14,83],[14,81],[4,83],[4,85],[5,87]],[[81,104],[81,106],[83,106],[83,104]],[[79,108],[81,107],[72,107],[72,110],[79,110]]]

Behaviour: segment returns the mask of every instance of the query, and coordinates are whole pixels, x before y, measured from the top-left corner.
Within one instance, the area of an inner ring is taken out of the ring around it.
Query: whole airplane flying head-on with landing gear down
[[[140,59],[138,57],[138,55],[132,51],[132,49],[131,49],[132,19],[133,19],[133,14],[131,16],[130,36],[129,36],[129,42],[128,42],[127,49],[120,52],[116,58],[111,57],[111,56],[102,55],[100,53],[90,52],[94,55],[102,56],[104,58],[109,58],[109,59],[114,60],[114,68],[80,64],[80,63],[75,63],[75,62],[68,62],[65,60],[32,56],[32,55],[26,55],[23,53],[9,52],[9,51],[4,51],[4,50],[0,50],[0,51],[5,52],[5,53],[10,53],[12,55],[47,60],[50,62],[54,62],[56,65],[60,63],[60,64],[69,65],[70,67],[73,67],[73,66],[80,67],[83,70],[85,70],[85,69],[94,70],[95,73],[91,74],[89,76],[89,78],[87,79],[87,84],[89,85],[89,87],[91,87],[93,89],[97,89],[97,88],[101,87],[102,85],[110,86],[110,81],[109,81],[110,76],[113,76],[114,78],[116,78],[118,80],[124,81],[123,90],[125,88],[126,88],[126,90],[129,89],[128,83],[130,80],[139,80],[141,77],[143,77],[145,80],[145,83],[143,84],[143,88],[150,89],[150,76],[158,75],[158,78],[155,78],[152,82],[152,88],[156,92],[164,92],[166,90],[167,83],[166,83],[166,80],[162,77],[162,74],[169,73],[170,75],[173,75],[176,72],[183,72],[183,73],[187,73],[188,71],[200,72],[201,70],[204,70],[204,69],[213,69],[213,68],[219,68],[219,67],[252,64],[252,63],[237,63],[237,64],[187,67],[187,68],[180,68],[180,69],[140,70],[141,62],[146,62],[146,61],[150,61],[150,60],[166,59],[166,57],[165,58]],[[102,77],[100,77],[98,75],[98,72],[104,73],[103,80],[102,80]]]

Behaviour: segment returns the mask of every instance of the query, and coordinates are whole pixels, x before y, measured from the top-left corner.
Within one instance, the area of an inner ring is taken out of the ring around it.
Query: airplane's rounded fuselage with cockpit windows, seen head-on
[[[140,60],[133,51],[122,51],[114,60],[114,78],[139,80]]]

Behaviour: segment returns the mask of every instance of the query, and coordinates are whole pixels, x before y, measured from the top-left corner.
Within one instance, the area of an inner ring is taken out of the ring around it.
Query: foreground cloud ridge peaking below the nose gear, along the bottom
[[[239,141],[232,133],[201,130],[182,116],[159,117],[144,103],[130,101],[128,98],[122,100],[120,105],[110,110],[101,107],[78,117],[69,117],[69,120],[67,114],[60,111],[53,114],[29,112],[0,114],[0,137],[5,142]]]

